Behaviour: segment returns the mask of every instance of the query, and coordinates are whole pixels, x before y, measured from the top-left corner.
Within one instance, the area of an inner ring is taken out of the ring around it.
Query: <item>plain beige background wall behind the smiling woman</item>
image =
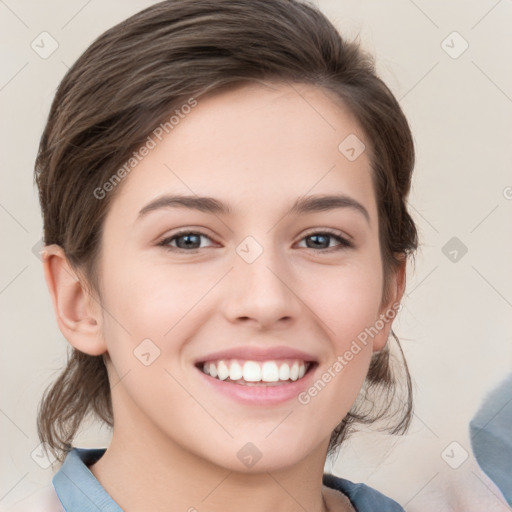
[[[152,3],[0,1],[2,509],[51,478],[52,469],[31,458],[36,407],[67,345],[33,252],[42,234],[32,177],[39,137],[67,68],[100,33]],[[395,323],[415,382],[412,428],[405,437],[359,434],[326,469],[408,511],[423,510],[436,493],[445,496],[439,510],[462,510],[446,504],[457,493],[496,504],[471,458],[453,469],[442,453],[453,441],[456,456],[470,450],[470,418],[512,370],[512,2],[315,3],[343,35],[361,34],[410,121],[417,149],[410,207],[421,238]],[[46,59],[31,48],[43,31],[58,43]],[[443,253],[452,237],[468,249],[455,262]],[[98,446],[98,436],[93,429],[81,444]]]

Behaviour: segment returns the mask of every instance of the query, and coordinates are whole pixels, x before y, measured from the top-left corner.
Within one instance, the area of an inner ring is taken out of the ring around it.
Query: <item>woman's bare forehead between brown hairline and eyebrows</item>
[[[369,141],[331,93],[306,84],[248,84],[200,97],[186,111],[161,140],[153,136],[154,148],[124,178],[114,212],[133,219],[165,193],[226,199],[235,214],[344,193],[376,215],[368,152],[361,145],[357,158],[347,158],[345,143]]]

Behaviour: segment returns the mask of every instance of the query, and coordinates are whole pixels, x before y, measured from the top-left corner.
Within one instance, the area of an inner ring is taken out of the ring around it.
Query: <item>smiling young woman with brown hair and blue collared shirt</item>
[[[358,423],[409,425],[388,338],[413,163],[372,59],[310,4],[165,1],[101,35],[36,162],[72,346],[39,411],[46,508],[403,510],[323,471]],[[88,413],[106,450],[73,446]]]

